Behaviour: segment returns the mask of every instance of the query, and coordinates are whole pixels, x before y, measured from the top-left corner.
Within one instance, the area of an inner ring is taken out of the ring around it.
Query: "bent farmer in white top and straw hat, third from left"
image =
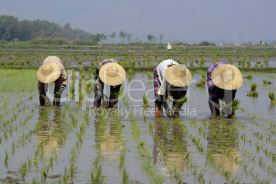
[[[153,73],[154,97],[155,97],[155,117],[161,117],[163,107],[168,117],[178,117],[181,106],[176,107],[176,103],[187,93],[187,86],[192,81],[192,75],[185,65],[168,59],[163,60],[154,69]],[[172,96],[172,109],[166,102],[168,95]]]

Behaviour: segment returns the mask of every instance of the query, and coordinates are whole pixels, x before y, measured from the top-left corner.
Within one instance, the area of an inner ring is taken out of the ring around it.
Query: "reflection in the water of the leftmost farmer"
[[[60,126],[60,114],[60,107],[45,108],[40,106],[38,109],[38,120],[41,125],[38,130],[37,140],[38,143],[45,142],[43,145],[45,157],[49,157],[52,150],[58,151],[62,146],[62,135],[64,135],[65,130]]]

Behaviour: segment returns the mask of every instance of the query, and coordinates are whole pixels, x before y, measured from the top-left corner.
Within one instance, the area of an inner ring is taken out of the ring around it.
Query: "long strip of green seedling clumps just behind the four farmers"
[[[12,54],[11,56],[8,54],[1,54],[1,65],[38,65],[39,63],[42,63],[43,60],[41,59],[46,58],[46,54],[33,54],[28,55],[25,54],[25,56],[22,56],[22,54]],[[84,65],[84,62],[86,62],[85,65],[90,65],[89,62],[91,62],[91,65],[99,62],[103,58],[116,58],[120,65],[124,66],[149,66],[152,64],[158,64],[161,61],[165,59],[173,59],[176,62],[183,63],[184,65],[187,65],[188,67],[204,67],[207,66],[207,63],[212,62],[218,62],[218,61],[224,61],[228,62],[229,64],[233,64],[235,62],[238,62],[239,67],[251,67],[251,63],[255,63],[255,67],[268,67],[268,62],[271,58],[271,56],[268,54],[266,55],[233,55],[233,56],[220,56],[220,54],[217,55],[211,55],[211,56],[198,56],[198,55],[192,55],[192,54],[183,54],[183,55],[174,55],[170,56],[170,54],[125,54],[123,56],[119,56],[118,54],[56,54],[56,56],[59,56],[62,61],[64,62],[64,65],[67,65],[67,62],[69,63],[76,63],[78,62],[78,65]],[[4,60],[5,58],[5,60]],[[37,59],[38,58],[38,59]],[[246,64],[246,65],[245,65]],[[40,64],[39,64],[40,65]],[[71,64],[70,64],[71,65]],[[70,66],[69,65],[69,66]]]

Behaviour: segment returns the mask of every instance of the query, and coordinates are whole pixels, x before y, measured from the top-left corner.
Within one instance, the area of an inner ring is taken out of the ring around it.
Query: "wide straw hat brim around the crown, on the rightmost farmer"
[[[222,77],[222,71],[224,71],[227,68],[231,68],[235,74],[235,78],[232,80],[225,81]],[[226,90],[234,90],[239,89],[242,87],[242,73],[240,73],[240,70],[238,67],[235,67],[234,65],[220,65],[214,71],[211,73],[211,80],[216,85],[216,87],[219,87],[220,89],[226,89]]]

